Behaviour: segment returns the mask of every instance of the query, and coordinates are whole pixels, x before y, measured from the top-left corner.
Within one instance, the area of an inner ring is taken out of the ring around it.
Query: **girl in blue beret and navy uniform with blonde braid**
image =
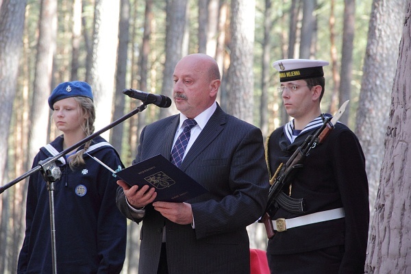
[[[49,97],[53,121],[62,136],[40,151],[33,166],[94,132],[95,107],[86,82],[59,84]],[[123,164],[100,136],[59,158],[55,182],[55,245],[58,273],[120,273],[125,259],[126,219],[116,208],[114,170]],[[26,231],[17,273],[52,273],[49,191],[40,173],[29,178]]]

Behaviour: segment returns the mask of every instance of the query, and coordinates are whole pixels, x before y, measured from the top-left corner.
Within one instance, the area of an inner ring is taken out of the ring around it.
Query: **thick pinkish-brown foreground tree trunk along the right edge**
[[[385,3],[385,1],[374,2]],[[390,2],[390,5],[393,3]],[[387,16],[390,17],[388,14]],[[366,273],[408,273],[411,269],[410,0],[407,3],[404,19],[384,141],[385,155],[366,258]],[[392,18],[390,23],[393,23]],[[379,66],[380,69],[382,67]],[[374,126],[380,125],[374,124]]]

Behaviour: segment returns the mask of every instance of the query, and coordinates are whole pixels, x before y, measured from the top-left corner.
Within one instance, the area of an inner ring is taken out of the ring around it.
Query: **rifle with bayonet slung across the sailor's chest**
[[[269,199],[266,205],[266,210],[262,216],[262,223],[266,228],[267,237],[269,239],[273,238],[275,235],[275,230],[273,227],[273,222],[271,221],[271,216],[275,214],[279,206],[292,213],[305,213],[304,199],[295,199],[287,196],[283,189],[286,183],[289,182],[290,177],[295,174],[298,169],[303,167],[303,161],[310,154],[310,150],[316,147],[316,145],[324,142],[327,138],[329,132],[334,129],[334,125],[337,123],[338,119],[345,112],[349,100],[345,101],[341,108],[337,111],[334,117],[327,117],[324,119],[323,125],[316,130],[314,135],[310,135],[304,140],[303,144],[299,146],[294,153],[292,153],[290,159],[284,163],[281,163],[275,171],[275,174],[270,180],[270,190]]]

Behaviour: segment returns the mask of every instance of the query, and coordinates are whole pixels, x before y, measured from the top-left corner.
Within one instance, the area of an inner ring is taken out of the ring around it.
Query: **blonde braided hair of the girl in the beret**
[[[82,108],[81,113],[79,113],[79,117],[80,118],[82,117],[81,114],[88,116],[88,118],[86,119],[86,123],[84,123],[84,125],[81,123],[81,125],[83,127],[84,133],[86,133],[86,136],[90,136],[95,131],[95,127],[94,127],[94,122],[96,119],[95,105],[92,102],[92,99],[88,97],[79,96],[79,97],[73,97],[73,98],[75,99],[75,101],[77,101],[79,106]],[[84,162],[83,153],[90,147],[90,145],[91,145],[91,140],[89,140],[88,142],[86,142],[86,144],[84,144],[84,149],[77,151],[77,153],[69,157],[69,165],[70,165],[71,170],[74,170],[78,166],[82,166],[86,164],[86,162]]]

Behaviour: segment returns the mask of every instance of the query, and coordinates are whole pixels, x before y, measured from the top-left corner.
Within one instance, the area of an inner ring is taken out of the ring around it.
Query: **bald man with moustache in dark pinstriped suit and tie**
[[[216,103],[221,79],[210,56],[187,55],[173,78],[180,114],[142,130],[134,162],[160,153],[209,192],[186,203],[153,203],[154,188],[118,182],[119,210],[142,221],[139,273],[248,274],[246,227],[264,212],[269,186],[262,133]],[[177,155],[173,147],[186,133],[186,119],[190,138]]]

